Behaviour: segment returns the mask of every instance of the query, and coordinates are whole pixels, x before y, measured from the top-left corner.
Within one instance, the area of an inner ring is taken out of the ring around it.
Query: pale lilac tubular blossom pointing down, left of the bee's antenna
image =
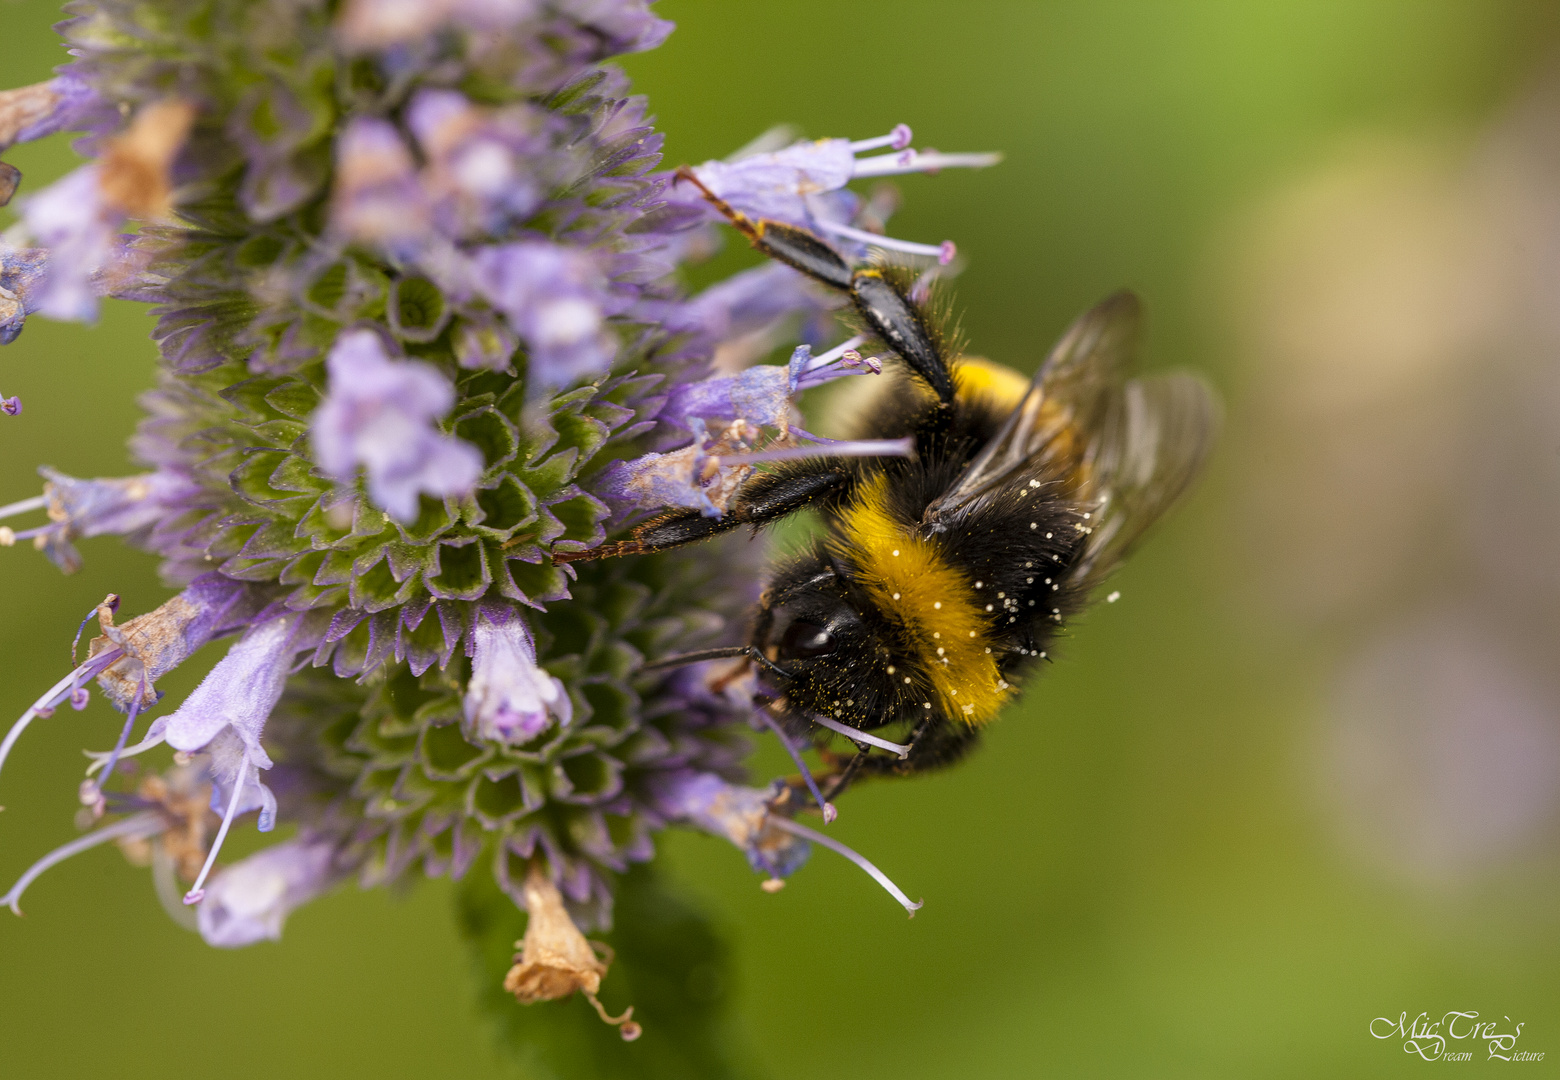
[[[574,716],[563,682],[537,666],[537,645],[526,620],[507,604],[484,604],[466,638],[466,737],[529,743],[554,719]]]

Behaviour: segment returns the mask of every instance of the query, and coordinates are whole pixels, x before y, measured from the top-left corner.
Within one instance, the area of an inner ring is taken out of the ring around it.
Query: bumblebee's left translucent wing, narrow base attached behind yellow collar
[[[992,440],[927,507],[924,523],[941,531],[1008,478],[1055,459],[1073,459],[1064,471],[1075,471],[1081,442],[1100,429],[1120,396],[1140,322],[1142,304],[1129,292],[1108,297],[1080,315]]]

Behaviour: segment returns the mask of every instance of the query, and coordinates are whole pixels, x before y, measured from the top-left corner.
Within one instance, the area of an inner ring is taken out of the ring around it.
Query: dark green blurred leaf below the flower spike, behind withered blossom
[[[710,921],[654,866],[618,879],[615,927],[601,935],[616,960],[602,1004],[633,1005],[644,1035],[624,1043],[579,994],[521,1005],[504,993],[504,972],[526,916],[490,874],[471,874],[459,894],[460,929],[474,954],[479,997],[499,1041],[538,1080],[725,1080],[763,1075],[730,1021],[732,969]]]

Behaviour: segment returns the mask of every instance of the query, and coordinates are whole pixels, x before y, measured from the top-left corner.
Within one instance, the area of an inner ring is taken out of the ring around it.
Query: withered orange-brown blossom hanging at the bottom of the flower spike
[[[632,1021],[633,1008],[627,1008],[622,1016],[612,1016],[596,999],[612,963],[610,950],[605,960],[599,957],[574,925],[563,907],[563,896],[540,860],[526,872],[526,910],[530,913],[526,936],[515,943],[519,954],[515,966],[504,975],[504,989],[521,1005],[551,1002],[579,991],[604,1022],[618,1027],[626,1041],[636,1039],[641,1028]]]

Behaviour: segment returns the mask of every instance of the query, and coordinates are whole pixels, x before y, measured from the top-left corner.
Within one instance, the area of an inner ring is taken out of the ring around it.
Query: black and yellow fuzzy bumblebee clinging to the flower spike
[[[792,740],[856,741],[853,755],[824,752],[819,802],[856,777],[948,765],[1197,476],[1215,398],[1186,373],[1128,378],[1133,293],[1081,315],[1028,381],[961,357],[908,268],[852,267],[813,233],[752,220],[691,170],[679,176],[766,256],[849,297],[902,361],[852,437],[908,435],[916,454],[786,462],[749,476],[721,517],[665,512],[630,540],[560,559],[665,551],[816,510],[824,535],[775,567],[746,646],[646,666],[744,655],[755,704]]]

